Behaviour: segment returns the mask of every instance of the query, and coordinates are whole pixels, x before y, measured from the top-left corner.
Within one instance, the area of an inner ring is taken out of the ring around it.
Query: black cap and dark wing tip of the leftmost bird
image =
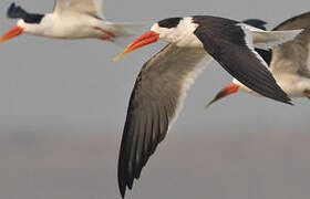
[[[23,19],[27,23],[40,23],[44,14],[28,13],[21,7],[16,7],[13,2],[8,9],[7,17],[11,19]]]

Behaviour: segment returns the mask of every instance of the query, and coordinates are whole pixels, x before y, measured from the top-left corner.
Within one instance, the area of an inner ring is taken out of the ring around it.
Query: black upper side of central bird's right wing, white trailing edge
[[[266,62],[254,50],[252,34],[246,25],[218,18],[196,18],[196,21],[200,25],[194,33],[228,73],[257,93],[290,104]]]

